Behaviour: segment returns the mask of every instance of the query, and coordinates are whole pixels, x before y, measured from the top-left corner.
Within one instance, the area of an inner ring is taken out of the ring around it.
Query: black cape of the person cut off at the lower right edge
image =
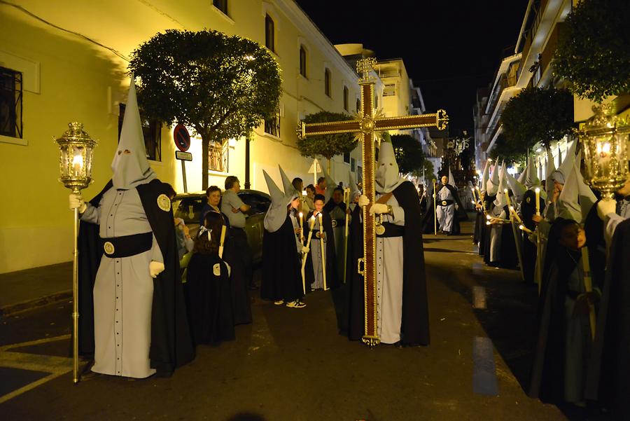
[[[630,219],[619,223],[610,254],[597,319],[587,397],[629,420],[630,406]]]

